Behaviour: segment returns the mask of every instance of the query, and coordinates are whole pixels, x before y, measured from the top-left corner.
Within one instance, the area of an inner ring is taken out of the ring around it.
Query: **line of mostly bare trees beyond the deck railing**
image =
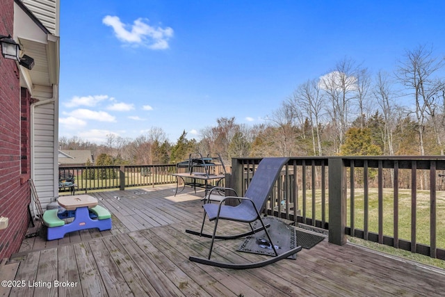
[[[394,72],[371,74],[343,58],[301,83],[263,123],[218,118],[199,141],[184,131],[170,143],[152,127],[136,139],[110,134],[102,145],[78,137],[59,145],[109,156],[108,165],[177,163],[193,152],[218,152],[227,163],[243,156],[444,155],[444,59],[419,45],[405,51]]]

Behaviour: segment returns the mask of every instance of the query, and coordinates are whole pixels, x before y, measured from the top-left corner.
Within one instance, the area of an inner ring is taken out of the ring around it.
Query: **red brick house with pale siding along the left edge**
[[[28,63],[0,54],[0,259],[19,250],[29,225],[28,179],[44,207],[58,196],[59,8],[60,0],[0,1],[0,35]]]

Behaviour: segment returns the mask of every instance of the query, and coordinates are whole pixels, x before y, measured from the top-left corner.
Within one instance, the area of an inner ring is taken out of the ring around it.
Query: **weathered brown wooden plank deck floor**
[[[24,239],[19,252],[0,263],[1,280],[24,282],[0,287],[0,296],[444,296],[445,271],[439,268],[327,239],[298,252],[296,260],[264,268],[238,271],[190,262],[190,255],[205,257],[210,243],[184,232],[200,228],[202,193],[186,188],[173,199],[174,190],[92,194],[112,212],[113,229],[72,232],[57,241]],[[241,224],[220,226],[245,230]],[[257,260],[258,255],[235,251],[241,241],[218,241],[215,259]]]

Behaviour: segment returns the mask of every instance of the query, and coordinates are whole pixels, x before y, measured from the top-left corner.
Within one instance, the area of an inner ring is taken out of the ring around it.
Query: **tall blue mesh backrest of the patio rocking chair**
[[[250,198],[254,201],[255,207],[257,207],[259,212],[265,207],[267,198],[273,189],[273,185],[280,176],[284,164],[288,161],[289,158],[273,157],[264,158],[259,162],[248,190],[245,191],[245,194],[243,195],[245,198]],[[245,200],[242,201],[245,202]]]

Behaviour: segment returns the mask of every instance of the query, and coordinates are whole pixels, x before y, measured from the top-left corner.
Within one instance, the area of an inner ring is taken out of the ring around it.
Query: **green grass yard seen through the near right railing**
[[[298,209],[303,211],[302,193],[298,193]],[[312,191],[307,191],[306,216],[312,216]],[[411,240],[411,218],[412,218],[412,198],[410,189],[399,189],[398,194],[398,236],[400,239]],[[328,197],[328,193],[326,193]],[[326,201],[326,220],[329,218],[329,208]],[[355,188],[355,228],[364,229],[364,189]],[[437,248],[445,249],[445,191],[437,191],[436,196],[436,226],[437,226]],[[316,191],[316,219],[321,220],[321,191]],[[348,191],[347,225],[350,226],[350,192]],[[370,232],[378,233],[378,189],[369,188],[369,211],[368,227]],[[394,192],[392,188],[383,190],[383,234],[394,236]],[[445,261],[432,259],[423,255],[413,254],[405,250],[391,248],[371,241],[364,241],[354,237],[349,237],[353,243],[361,246],[380,250],[407,257],[423,264],[430,264],[445,268]],[[416,242],[430,246],[430,191],[417,190],[416,193]]]

